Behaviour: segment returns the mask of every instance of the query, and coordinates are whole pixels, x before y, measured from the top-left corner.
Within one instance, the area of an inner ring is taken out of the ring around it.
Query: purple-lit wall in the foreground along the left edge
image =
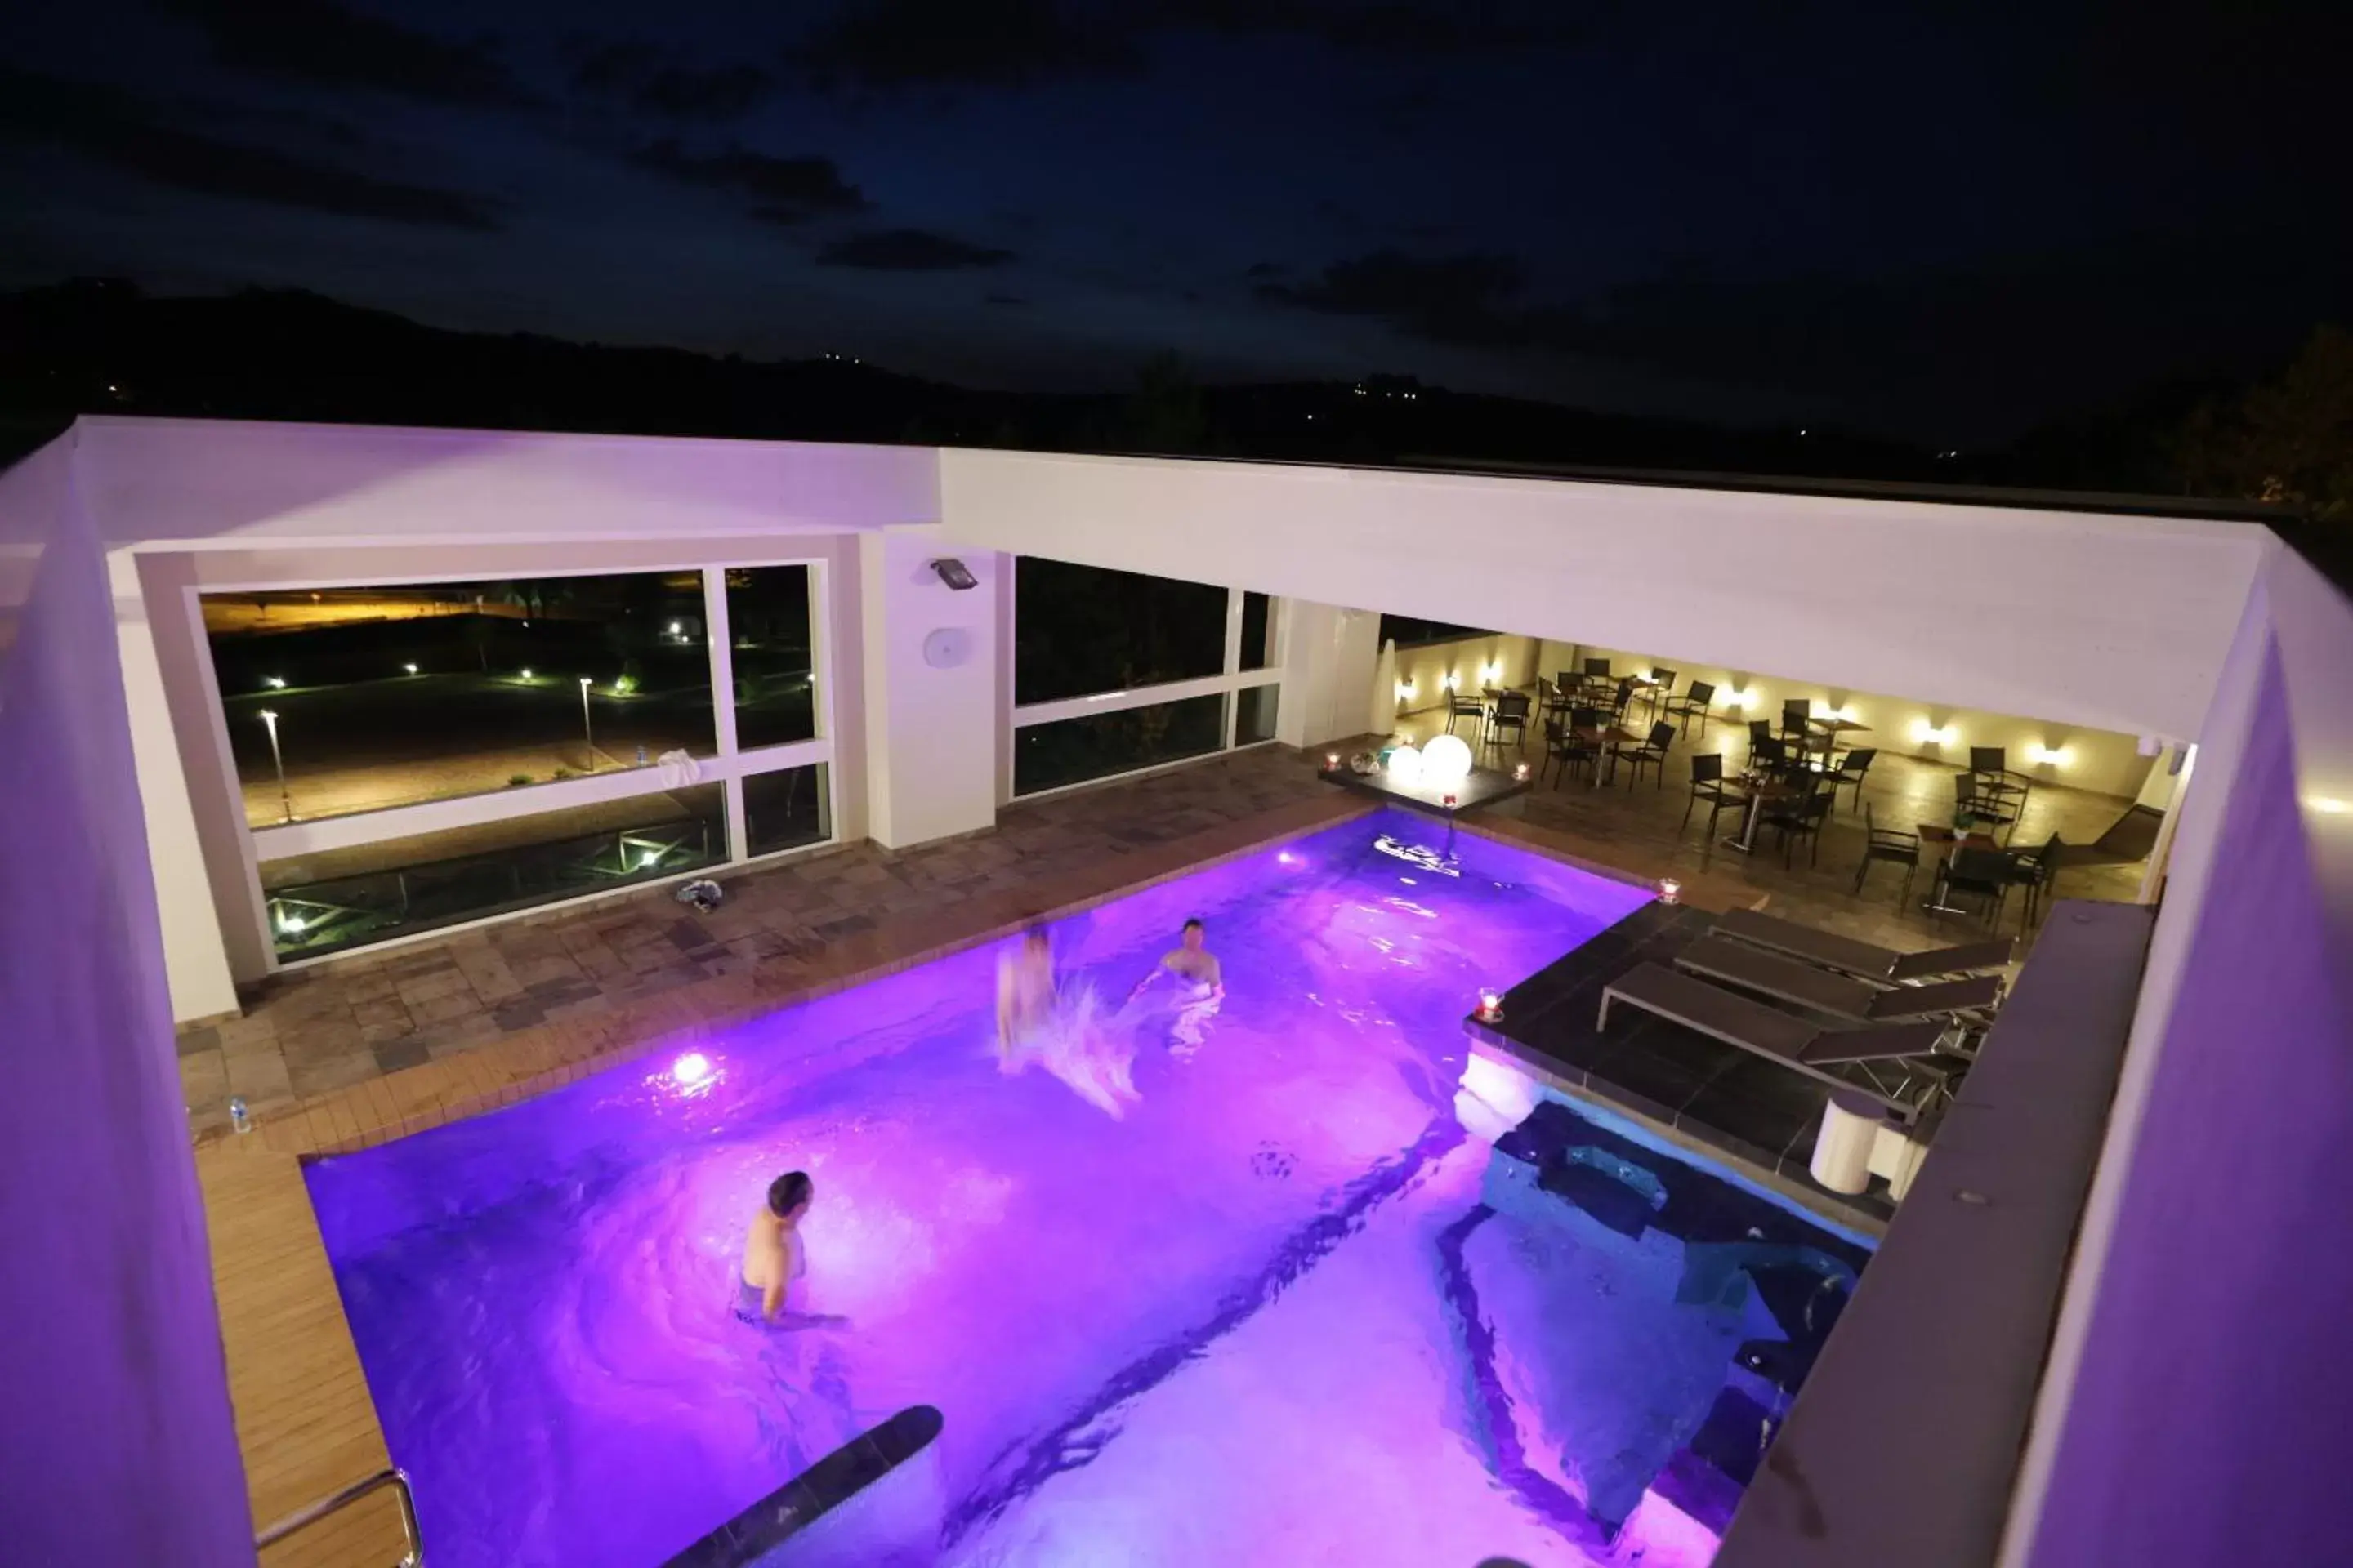
[[[106,562],[0,475],[0,1521],[12,1563],[252,1563]]]

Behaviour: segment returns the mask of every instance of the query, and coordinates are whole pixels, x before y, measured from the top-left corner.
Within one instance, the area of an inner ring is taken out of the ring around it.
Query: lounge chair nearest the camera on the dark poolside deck
[[[1769,1001],[1755,1001],[1666,964],[1635,964],[1602,987],[1598,1032],[1609,1030],[1609,1004],[1624,1001],[1685,1030],[1753,1051],[1831,1088],[1868,1095],[1897,1121],[1911,1124],[1946,1086],[1934,1067],[1913,1063],[1937,1051],[1941,1023],[1880,1023],[1861,1030],[1824,1030]],[[1958,1065],[1958,1063],[1955,1063]],[[1842,1072],[1840,1067],[1859,1067]]]

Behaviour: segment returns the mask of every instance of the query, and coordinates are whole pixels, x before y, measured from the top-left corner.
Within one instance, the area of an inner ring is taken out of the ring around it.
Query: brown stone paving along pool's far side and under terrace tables
[[[1417,724],[1409,719],[1407,729]],[[228,1095],[242,1095],[268,1119],[499,1041],[562,1034],[565,1025],[595,1025],[595,1048],[619,1051],[633,1044],[628,1034],[640,1027],[633,1018],[715,1018],[746,999],[781,1006],[1007,922],[1104,898],[1176,875],[1205,856],[1360,809],[1315,778],[1320,755],[1257,748],[1155,778],[1016,804],[986,835],[899,853],[852,844],[729,875],[722,877],[727,903],[713,914],[678,905],[668,889],[649,889],[278,976],[247,997],[242,1018],[181,1032],[191,1124],[198,1135],[226,1126]],[[1704,907],[1769,903],[1795,919],[1901,950],[1972,933],[1972,922],[1918,907],[1927,867],[1911,900],[1897,898],[1894,867],[1875,867],[1866,891],[1852,891],[1861,811],[1845,802],[1824,832],[1819,867],[1802,853],[1784,870],[1779,853],[1744,858],[1718,849],[1704,811],[1682,825],[1685,757],[1687,748],[1678,748],[1664,790],[1649,780],[1633,790],[1546,785],[1525,797],[1518,820],[1487,825],[1624,875],[1678,877],[1685,898]],[[1911,757],[1880,757],[1866,799],[1882,825],[1944,820],[1951,776],[1953,769]],[[2089,842],[2122,809],[2125,802],[2106,795],[2040,788],[2014,837],[2035,844],[2057,830],[2068,842]],[[1729,818],[1720,823],[1729,825]],[[2139,867],[2080,867],[2061,877],[2059,893],[2132,898],[2137,884]],[[2005,929],[2014,924],[2017,900]],[[649,1006],[656,1001],[675,1006]],[[569,1063],[579,1053],[565,1046],[562,1056]]]

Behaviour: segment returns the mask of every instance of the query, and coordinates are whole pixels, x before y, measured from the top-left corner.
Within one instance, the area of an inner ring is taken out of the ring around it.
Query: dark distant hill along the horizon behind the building
[[[1449,393],[1405,376],[1195,386],[1169,357],[1132,393],[946,386],[847,360],[445,331],[292,289],[158,299],[82,280],[0,296],[0,458],[78,414],[584,430],[816,442],[1172,451],[1337,463],[1527,463],[1833,480],[2144,487],[2132,442],[2049,461],[1833,430],[1741,430]],[[2146,444],[2146,442],[2144,442]]]

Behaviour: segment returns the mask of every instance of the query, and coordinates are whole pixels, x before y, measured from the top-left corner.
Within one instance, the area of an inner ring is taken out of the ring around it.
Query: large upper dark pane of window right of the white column
[[[1158,686],[1226,668],[1226,590],[1024,555],[1014,703]]]

